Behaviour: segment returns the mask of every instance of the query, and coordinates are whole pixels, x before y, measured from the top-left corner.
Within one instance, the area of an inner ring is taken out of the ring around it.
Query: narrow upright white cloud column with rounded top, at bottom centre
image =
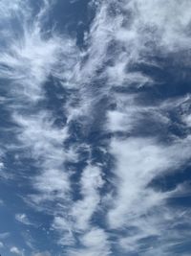
[[[103,186],[101,170],[89,164],[80,177],[80,195],[82,199],[70,201],[71,206],[62,206],[65,212],[60,210],[53,221],[53,229],[61,234],[59,244],[74,244],[74,233],[83,234],[90,232],[93,227],[92,217],[100,204],[99,189]],[[56,212],[54,212],[56,215]],[[103,231],[104,232],[104,231]],[[80,236],[79,236],[80,237]],[[83,243],[82,243],[83,244]]]

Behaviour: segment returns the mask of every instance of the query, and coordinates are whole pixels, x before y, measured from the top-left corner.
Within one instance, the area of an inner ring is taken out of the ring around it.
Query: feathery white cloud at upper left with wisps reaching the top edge
[[[44,2],[44,4],[43,4]],[[12,13],[22,19],[19,24],[22,27],[18,32],[19,36],[14,35],[14,28],[8,26],[10,30],[4,32],[10,35],[2,35],[5,39],[6,47],[0,50],[1,78],[11,81],[11,92],[15,105],[22,105],[26,100],[28,104],[36,102],[43,97],[42,86],[52,74],[59,77],[64,83],[70,81],[73,74],[73,67],[77,59],[77,49],[74,40],[67,35],[56,35],[49,32],[47,36],[43,33],[44,18],[51,8],[50,1],[42,1],[40,12],[32,16],[32,7],[25,1],[14,1],[7,4],[2,1],[1,15]],[[21,15],[22,13],[22,15]],[[29,20],[32,19],[32,22]],[[9,23],[10,20],[4,20]],[[15,103],[16,97],[18,98]]]

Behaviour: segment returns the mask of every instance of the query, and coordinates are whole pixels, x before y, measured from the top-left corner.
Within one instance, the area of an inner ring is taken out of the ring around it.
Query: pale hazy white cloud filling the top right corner
[[[188,1],[130,1],[138,7],[138,25],[157,29],[160,38],[157,44],[167,49],[164,51],[187,48],[190,42],[186,30],[191,21]],[[131,3],[131,4],[132,4]],[[130,4],[130,5],[131,5]],[[127,5],[128,8],[128,5]],[[172,13],[169,15],[169,12]],[[141,22],[141,23],[140,23]],[[142,24],[142,25],[141,25]],[[156,38],[157,39],[157,38]]]

